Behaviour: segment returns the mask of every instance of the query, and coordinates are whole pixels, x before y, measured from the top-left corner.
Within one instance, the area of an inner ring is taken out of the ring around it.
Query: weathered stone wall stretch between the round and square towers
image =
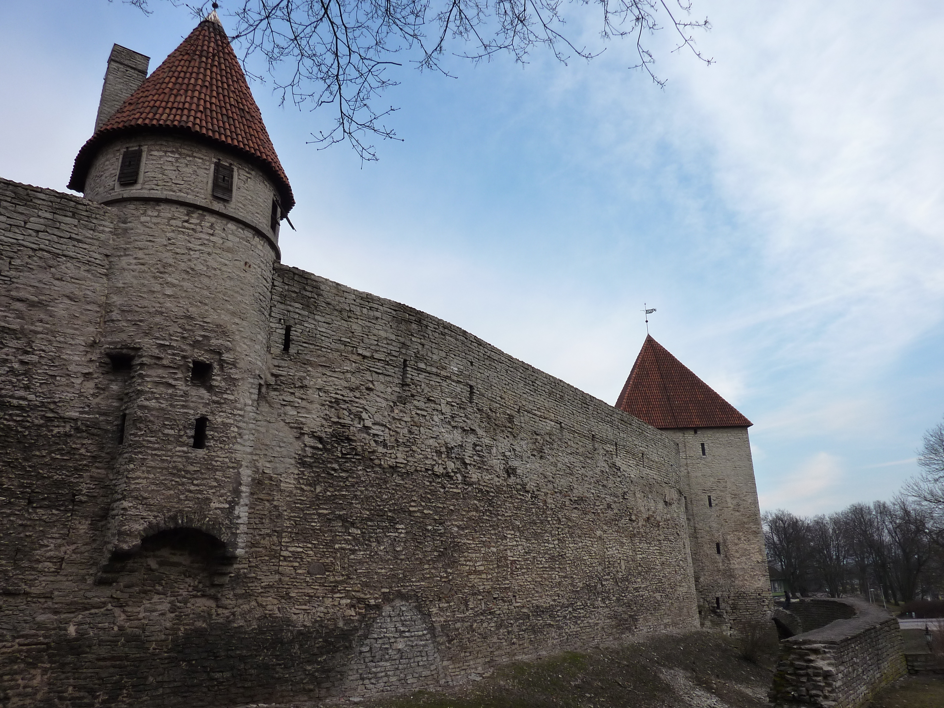
[[[281,593],[331,625],[412,603],[429,682],[697,621],[663,434],[428,314],[276,274],[254,482],[272,501],[253,497],[248,555],[279,559]]]

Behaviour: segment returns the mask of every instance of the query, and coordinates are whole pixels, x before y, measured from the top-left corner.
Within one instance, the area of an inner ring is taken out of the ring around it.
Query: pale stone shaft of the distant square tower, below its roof
[[[682,458],[702,624],[736,628],[739,620],[763,619],[770,582],[748,429],[665,432]]]

